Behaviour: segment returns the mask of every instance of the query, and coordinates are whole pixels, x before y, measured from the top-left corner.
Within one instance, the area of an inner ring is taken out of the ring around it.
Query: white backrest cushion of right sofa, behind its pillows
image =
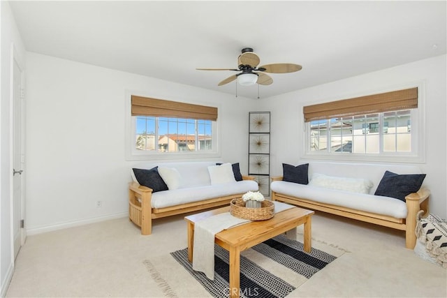
[[[421,174],[417,165],[311,161],[309,162],[309,181],[314,173],[335,177],[369,179],[374,184],[369,193],[374,194],[387,170],[396,174]]]

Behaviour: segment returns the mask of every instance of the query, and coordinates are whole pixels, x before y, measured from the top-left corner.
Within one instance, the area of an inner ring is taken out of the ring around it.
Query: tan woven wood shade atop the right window
[[[418,107],[418,88],[360,96],[303,107],[305,122]]]

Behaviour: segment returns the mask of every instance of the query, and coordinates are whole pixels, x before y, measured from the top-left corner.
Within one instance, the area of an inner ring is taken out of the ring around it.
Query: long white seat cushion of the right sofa
[[[286,181],[273,181],[270,187],[272,191],[284,195],[291,195],[315,202],[333,204],[375,214],[393,216],[394,218],[406,218],[407,214],[405,202],[380,195],[352,193],[349,191],[339,191]]]

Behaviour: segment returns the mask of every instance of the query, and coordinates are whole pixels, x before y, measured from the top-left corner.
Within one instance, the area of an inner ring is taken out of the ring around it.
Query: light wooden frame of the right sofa
[[[272,181],[281,181],[282,177],[272,177]],[[294,204],[303,208],[336,214],[347,218],[353,218],[358,221],[365,221],[367,223],[374,223],[376,225],[383,225],[388,228],[405,231],[405,246],[413,249],[416,246],[416,218],[418,211],[425,211],[425,216],[428,215],[428,201],[430,191],[427,188],[420,188],[417,193],[411,193],[405,197],[407,215],[406,218],[394,218],[392,216],[385,216],[381,214],[374,214],[367,211],[360,211],[356,209],[340,207],[334,204],[325,204],[307,200],[305,198],[298,198],[291,195],[284,195],[272,191],[272,200]]]

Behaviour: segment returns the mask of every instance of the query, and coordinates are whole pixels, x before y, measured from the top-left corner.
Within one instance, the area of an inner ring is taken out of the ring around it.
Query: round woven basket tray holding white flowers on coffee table
[[[274,204],[268,200],[261,202],[261,208],[247,208],[242,198],[230,202],[230,214],[250,221],[265,221],[274,216]]]

